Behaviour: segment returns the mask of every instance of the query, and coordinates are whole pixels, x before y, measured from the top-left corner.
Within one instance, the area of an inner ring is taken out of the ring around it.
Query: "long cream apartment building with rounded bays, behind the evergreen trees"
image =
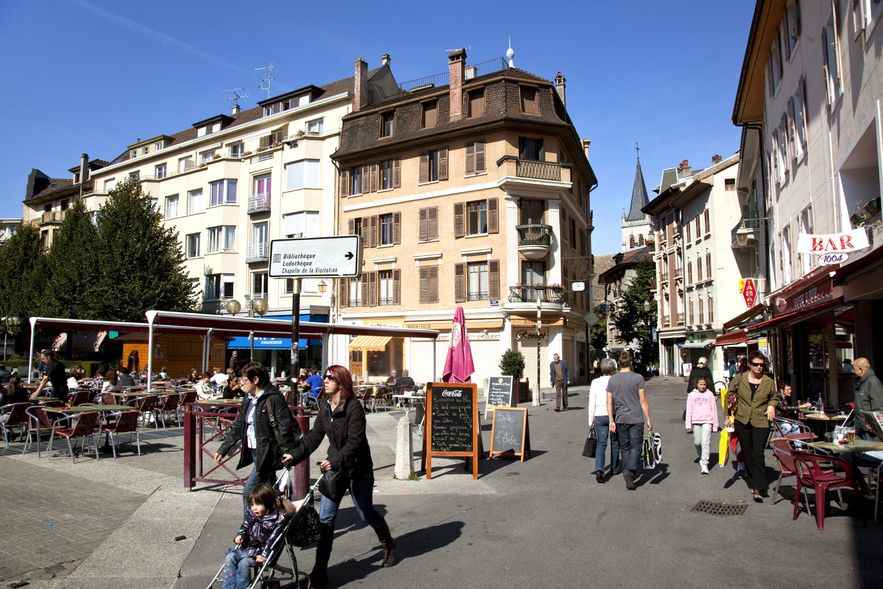
[[[360,83],[367,104],[400,92],[388,55]],[[266,301],[267,316],[290,317],[293,284],[269,278],[270,241],[335,233],[337,170],[331,154],[339,147],[352,92],[352,77],[305,85],[252,108],[235,104],[229,114],[183,130],[138,138],[110,162],[85,159],[71,168],[69,179],[35,170],[25,221],[41,226],[48,247],[73,199],[82,194],[87,210],[97,211],[119,182],[133,178],[178,232],[204,312],[227,313],[235,299],[243,314],[254,312],[253,302],[263,310],[257,302]],[[328,321],[332,291],[330,281],[304,280],[301,318]],[[247,348],[246,340],[235,338],[230,347]],[[318,365],[320,340],[301,344],[305,365]],[[288,340],[257,338],[255,347],[262,362],[287,366]]]

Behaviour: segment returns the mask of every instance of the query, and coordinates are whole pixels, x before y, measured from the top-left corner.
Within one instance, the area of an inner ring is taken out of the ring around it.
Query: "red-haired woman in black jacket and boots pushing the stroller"
[[[300,440],[292,452],[294,463],[305,460],[322,440],[328,437],[328,456],[319,463],[323,476],[332,473],[345,477],[344,485],[353,497],[359,516],[377,533],[383,544],[383,566],[396,563],[395,541],[386,520],[374,509],[374,464],[371,448],[365,435],[365,410],[353,396],[353,378],[343,366],[333,365],[325,370],[325,398],[319,402],[319,415],[313,428]],[[334,521],[342,497],[337,500],[322,495],[319,505],[319,542],[316,546],[316,564],[310,573],[310,587],[328,584],[328,559],[334,542]]]

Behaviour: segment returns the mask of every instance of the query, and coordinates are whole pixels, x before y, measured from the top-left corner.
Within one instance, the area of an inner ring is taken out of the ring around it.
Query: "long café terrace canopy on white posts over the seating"
[[[247,335],[249,337],[290,337],[291,321],[286,319],[261,319],[253,317],[232,317],[229,315],[209,315],[204,313],[184,313],[178,311],[151,310],[145,313],[147,323],[127,321],[96,321],[91,319],[65,319],[61,317],[31,317],[31,346],[28,359],[28,380],[33,372],[34,336],[38,324],[49,324],[60,329],[115,330],[121,334],[147,333],[147,386],[153,378],[153,334],[156,330],[173,333],[199,333],[206,338],[214,334],[220,336]],[[302,321],[300,337],[321,337],[330,335],[351,335],[377,338],[372,341],[393,337],[438,339],[438,331],[433,329],[408,329],[399,327],[373,327],[366,325],[344,325],[339,323],[316,323]],[[385,344],[384,344],[385,345]],[[433,346],[433,356],[435,346]],[[433,366],[435,359],[433,358]]]

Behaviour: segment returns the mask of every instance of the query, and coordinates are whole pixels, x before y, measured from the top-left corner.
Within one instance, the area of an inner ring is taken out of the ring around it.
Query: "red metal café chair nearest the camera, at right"
[[[816,526],[825,529],[825,506],[828,491],[837,491],[840,508],[844,508],[843,489],[856,490],[855,469],[852,463],[837,456],[819,456],[808,452],[794,452],[794,471],[797,484],[794,487],[794,517],[800,515],[800,493],[803,491],[806,512],[811,513],[806,490],[815,491]]]

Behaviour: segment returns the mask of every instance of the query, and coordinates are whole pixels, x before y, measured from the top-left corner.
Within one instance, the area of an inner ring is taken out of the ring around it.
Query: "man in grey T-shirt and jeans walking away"
[[[644,377],[632,372],[632,354],[619,354],[619,372],[607,383],[607,414],[610,431],[619,437],[622,450],[622,478],[629,491],[637,488],[635,477],[640,472],[644,426],[653,429],[650,405],[647,403]]]

